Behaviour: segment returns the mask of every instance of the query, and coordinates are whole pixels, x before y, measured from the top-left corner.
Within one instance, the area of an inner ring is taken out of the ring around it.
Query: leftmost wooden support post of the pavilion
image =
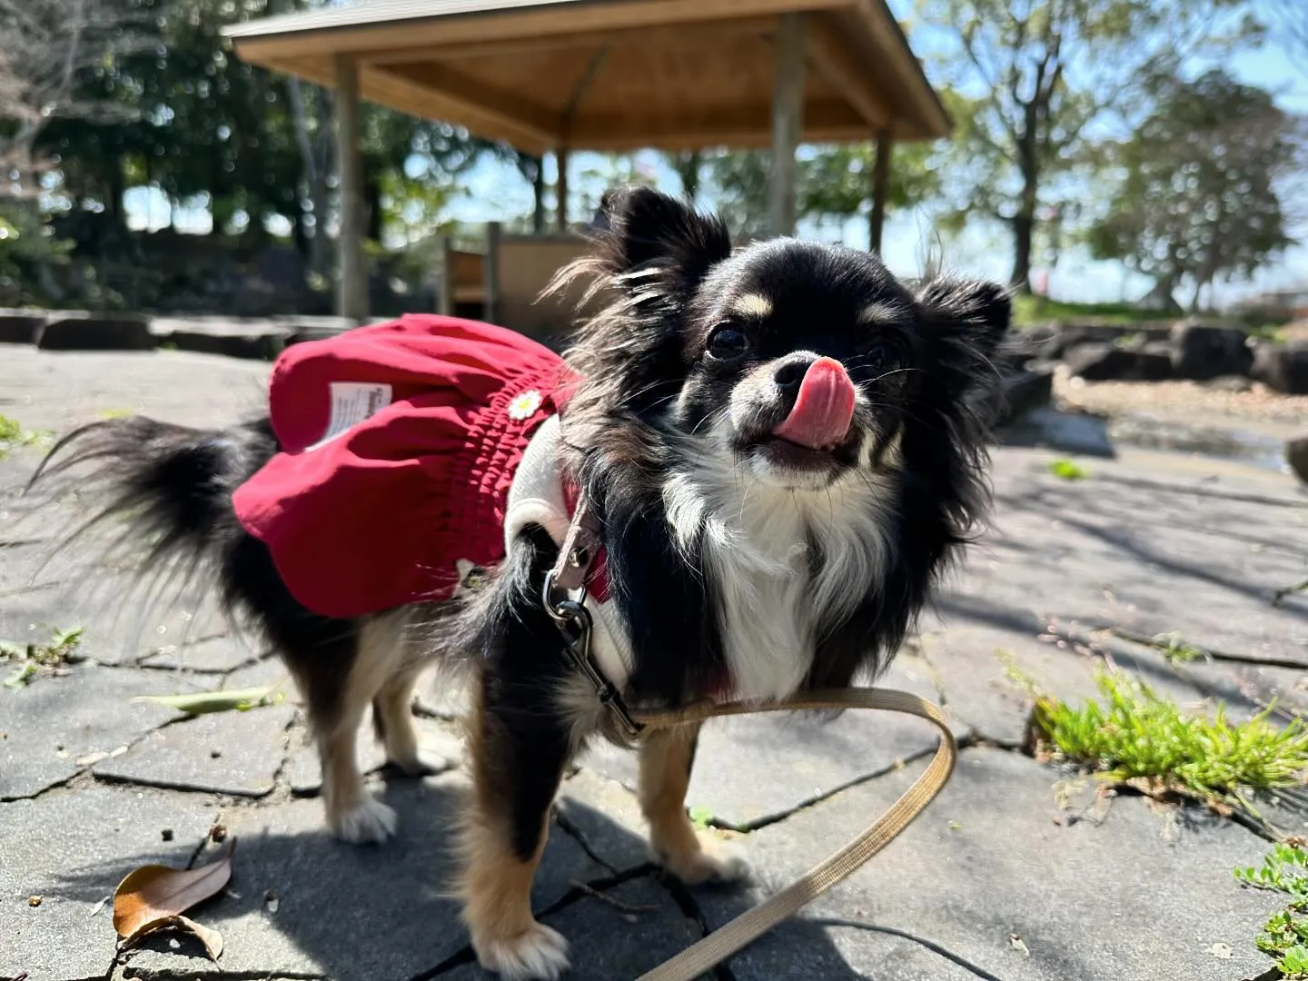
[[[336,55],[336,173],[340,175],[339,281],[341,317],[368,319],[368,267],[364,264],[364,160],[358,150],[358,65]]]

